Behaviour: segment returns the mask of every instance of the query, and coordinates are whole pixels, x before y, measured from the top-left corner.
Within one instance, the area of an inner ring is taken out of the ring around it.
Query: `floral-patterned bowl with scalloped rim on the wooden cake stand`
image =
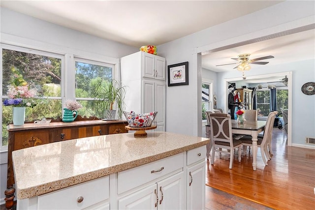
[[[150,127],[157,114],[158,112],[150,112],[145,114],[135,114],[133,111],[130,113],[124,112],[130,127]]]

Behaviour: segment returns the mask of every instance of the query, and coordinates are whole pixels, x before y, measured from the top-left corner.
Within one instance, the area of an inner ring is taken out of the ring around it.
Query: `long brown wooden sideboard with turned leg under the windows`
[[[125,129],[128,125],[125,120],[91,120],[79,116],[77,119],[74,122],[55,120],[49,124],[7,125],[8,167],[7,189],[4,191],[6,209],[12,209],[15,192],[12,151],[71,139],[128,132]]]

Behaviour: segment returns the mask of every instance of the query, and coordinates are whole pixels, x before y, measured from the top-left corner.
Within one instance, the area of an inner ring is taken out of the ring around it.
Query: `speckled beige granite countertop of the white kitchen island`
[[[31,198],[201,147],[207,138],[168,132],[112,134],[12,152],[18,199]]]

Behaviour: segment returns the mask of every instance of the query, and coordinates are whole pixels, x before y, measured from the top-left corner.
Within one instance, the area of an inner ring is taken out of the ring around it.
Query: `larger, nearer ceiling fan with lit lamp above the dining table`
[[[230,64],[240,63],[239,65],[235,66],[234,68],[237,68],[237,70],[240,70],[240,71],[244,71],[244,70],[250,70],[251,69],[251,66],[249,65],[249,63],[264,65],[264,64],[267,64],[269,62],[257,61],[257,60],[265,60],[265,59],[275,58],[274,56],[264,56],[264,57],[260,57],[260,58],[256,58],[256,59],[250,59],[250,55],[251,54],[248,54],[248,53],[238,55],[237,56],[238,58],[231,58],[232,60],[237,60],[238,62],[221,64],[221,65],[230,65]],[[221,66],[221,65],[216,65],[216,66]]]

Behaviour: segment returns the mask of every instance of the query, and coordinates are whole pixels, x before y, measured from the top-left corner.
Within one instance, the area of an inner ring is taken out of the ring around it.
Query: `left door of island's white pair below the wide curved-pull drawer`
[[[119,210],[156,210],[158,206],[157,184],[136,191],[118,200]]]

